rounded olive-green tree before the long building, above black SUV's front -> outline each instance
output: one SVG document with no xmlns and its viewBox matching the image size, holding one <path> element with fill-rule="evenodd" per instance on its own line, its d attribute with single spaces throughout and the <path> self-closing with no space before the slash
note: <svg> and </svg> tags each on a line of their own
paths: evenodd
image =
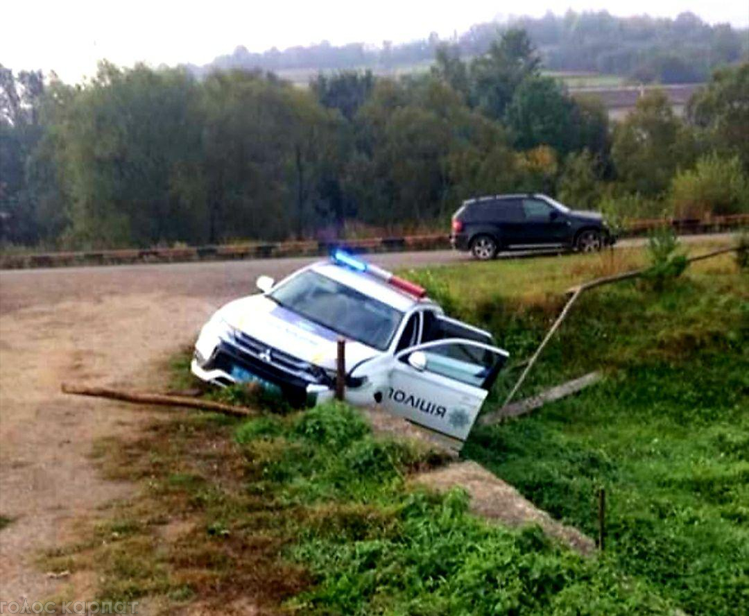
<svg viewBox="0 0 749 616">
<path fill-rule="evenodd" d="M 614 130 L 611 155 L 616 174 L 632 192 L 662 193 L 676 169 L 690 165 L 695 153 L 693 136 L 660 91 L 640 98 Z"/>
</svg>

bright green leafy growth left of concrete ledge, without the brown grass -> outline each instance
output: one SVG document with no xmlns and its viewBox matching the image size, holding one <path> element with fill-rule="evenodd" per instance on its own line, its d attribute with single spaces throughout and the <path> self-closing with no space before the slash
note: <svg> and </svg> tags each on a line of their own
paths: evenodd
<svg viewBox="0 0 749 616">
<path fill-rule="evenodd" d="M 313 585 L 303 614 L 667 613 L 668 603 L 606 559 L 585 559 L 539 528 L 509 531 L 470 515 L 464 492 L 437 496 L 404 478 L 440 462 L 374 438 L 357 411 L 314 408 L 237 430 L 252 490 L 301 508 L 286 549 Z"/>
</svg>

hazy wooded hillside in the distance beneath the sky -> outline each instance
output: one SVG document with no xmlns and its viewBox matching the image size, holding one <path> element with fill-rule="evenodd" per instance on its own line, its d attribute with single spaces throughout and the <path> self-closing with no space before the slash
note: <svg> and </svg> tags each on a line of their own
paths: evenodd
<svg viewBox="0 0 749 616">
<path fill-rule="evenodd" d="M 539 48 L 545 67 L 555 71 L 604 73 L 637 82 L 683 83 L 705 80 L 712 68 L 749 55 L 749 29 L 709 25 L 694 13 L 676 19 L 649 16 L 616 17 L 606 11 L 563 16 L 547 13 L 535 19 L 473 25 L 449 40 L 430 34 L 422 40 L 381 47 L 364 43 L 333 46 L 275 47 L 262 53 L 237 46 L 202 67 L 188 64 L 198 76 L 212 70 L 270 70 L 295 82 L 307 82 L 318 71 L 366 69 L 390 74 L 425 70 L 437 47 L 455 46 L 463 56 L 485 53 L 498 32 L 525 28 Z"/>
</svg>

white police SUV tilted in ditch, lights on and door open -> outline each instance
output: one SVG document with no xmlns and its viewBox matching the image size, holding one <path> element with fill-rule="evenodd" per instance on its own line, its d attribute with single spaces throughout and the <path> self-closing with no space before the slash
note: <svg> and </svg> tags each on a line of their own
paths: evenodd
<svg viewBox="0 0 749 616">
<path fill-rule="evenodd" d="M 461 442 L 508 357 L 425 289 L 342 250 L 277 284 L 261 276 L 258 289 L 201 329 L 191 366 L 198 378 L 256 381 L 314 405 L 333 397 L 343 337 L 347 402 L 380 405 Z"/>
</svg>

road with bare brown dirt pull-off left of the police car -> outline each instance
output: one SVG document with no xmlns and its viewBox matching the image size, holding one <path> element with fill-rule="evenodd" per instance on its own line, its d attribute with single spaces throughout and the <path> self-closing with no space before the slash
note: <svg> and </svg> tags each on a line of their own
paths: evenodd
<svg viewBox="0 0 749 616">
<path fill-rule="evenodd" d="M 389 269 L 470 260 L 446 250 L 369 258 Z M 13 519 L 0 531 L 0 600 L 31 603 L 67 585 L 90 600 L 95 581 L 46 577 L 34 555 L 65 543 L 71 520 L 95 518 L 130 489 L 97 474 L 91 443 L 137 434 L 148 416 L 63 396 L 61 382 L 161 387 L 163 362 L 216 307 L 255 292 L 260 274 L 278 279 L 315 260 L 0 271 L 0 515 Z"/>
</svg>

